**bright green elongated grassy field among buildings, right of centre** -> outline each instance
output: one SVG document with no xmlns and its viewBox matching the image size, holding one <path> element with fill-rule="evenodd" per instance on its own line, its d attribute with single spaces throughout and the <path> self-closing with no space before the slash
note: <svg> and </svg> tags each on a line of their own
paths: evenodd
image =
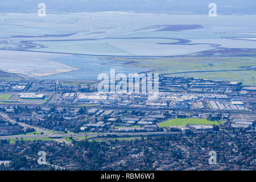
<svg viewBox="0 0 256 182">
<path fill-rule="evenodd" d="M 218 121 L 208 121 L 199 118 L 176 118 L 159 124 L 159 127 L 186 126 L 186 125 L 220 125 Z"/>
</svg>

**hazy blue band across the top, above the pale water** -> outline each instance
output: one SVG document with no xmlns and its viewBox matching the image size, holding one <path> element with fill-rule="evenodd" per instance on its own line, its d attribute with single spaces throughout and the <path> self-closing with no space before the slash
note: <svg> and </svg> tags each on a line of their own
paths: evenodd
<svg viewBox="0 0 256 182">
<path fill-rule="evenodd" d="M 218 14 L 256 14 L 256 0 L 1 0 L 0 13 L 33 12 L 46 3 L 52 13 L 134 11 L 170 14 L 207 14 L 209 3 Z M 48 12 L 49 13 L 49 12 Z"/>
</svg>

